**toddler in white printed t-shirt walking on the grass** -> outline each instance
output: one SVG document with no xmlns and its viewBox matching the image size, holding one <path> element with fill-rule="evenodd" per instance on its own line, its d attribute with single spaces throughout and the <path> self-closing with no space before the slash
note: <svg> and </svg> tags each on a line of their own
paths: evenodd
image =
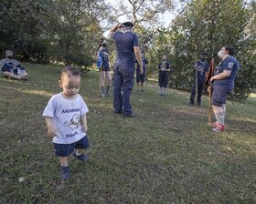
<svg viewBox="0 0 256 204">
<path fill-rule="evenodd" d="M 73 153 L 82 162 L 89 160 L 84 154 L 89 148 L 86 113 L 89 109 L 80 90 L 80 70 L 66 66 L 61 70 L 59 87 L 62 92 L 52 96 L 43 112 L 48 127 L 48 137 L 52 138 L 55 155 L 59 157 L 61 176 L 69 179 L 68 156 Z M 75 150 L 75 151 L 74 151 Z"/>
</svg>

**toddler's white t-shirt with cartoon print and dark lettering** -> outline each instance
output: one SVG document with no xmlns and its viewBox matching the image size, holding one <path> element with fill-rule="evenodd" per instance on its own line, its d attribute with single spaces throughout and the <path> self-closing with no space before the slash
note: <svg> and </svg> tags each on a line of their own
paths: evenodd
<svg viewBox="0 0 256 204">
<path fill-rule="evenodd" d="M 57 136 L 52 141 L 57 144 L 71 144 L 83 138 L 86 133 L 80 126 L 80 117 L 88 111 L 79 94 L 75 99 L 62 97 L 61 93 L 52 96 L 43 112 L 44 117 L 53 117 L 57 128 Z"/>
</svg>

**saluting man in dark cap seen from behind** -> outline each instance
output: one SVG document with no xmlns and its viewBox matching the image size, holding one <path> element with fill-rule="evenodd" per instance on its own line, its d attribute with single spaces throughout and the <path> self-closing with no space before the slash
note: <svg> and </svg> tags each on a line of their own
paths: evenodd
<svg viewBox="0 0 256 204">
<path fill-rule="evenodd" d="M 119 28 L 121 30 L 118 30 Z M 135 57 L 140 65 L 141 73 L 143 74 L 144 71 L 138 37 L 132 32 L 132 29 L 132 22 L 117 24 L 111 29 L 116 46 L 116 60 L 113 68 L 113 107 L 117 114 L 121 114 L 123 111 L 123 117 L 135 117 L 130 103 Z"/>
</svg>

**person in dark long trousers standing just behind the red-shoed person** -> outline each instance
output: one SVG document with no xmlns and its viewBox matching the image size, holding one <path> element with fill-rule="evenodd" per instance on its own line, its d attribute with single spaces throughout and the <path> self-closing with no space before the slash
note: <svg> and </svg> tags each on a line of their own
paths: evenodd
<svg viewBox="0 0 256 204">
<path fill-rule="evenodd" d="M 208 75 L 208 54 L 202 53 L 201 58 L 197 61 L 195 65 L 195 76 L 194 76 L 194 86 L 192 87 L 192 92 L 190 96 L 190 106 L 195 105 L 195 97 L 197 91 L 197 106 L 201 106 L 201 97 L 205 86 L 206 76 Z M 196 85 L 197 81 L 197 85 Z M 196 90 L 197 88 L 197 90 Z"/>
</svg>

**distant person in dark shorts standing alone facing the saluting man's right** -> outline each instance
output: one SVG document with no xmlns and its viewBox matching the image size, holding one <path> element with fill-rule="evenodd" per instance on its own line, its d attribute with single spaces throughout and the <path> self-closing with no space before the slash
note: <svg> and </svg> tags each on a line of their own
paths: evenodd
<svg viewBox="0 0 256 204">
<path fill-rule="evenodd" d="M 166 56 L 162 57 L 158 66 L 158 81 L 161 92 L 161 97 L 166 97 L 166 87 L 169 80 L 169 72 L 171 71 L 170 64 L 166 60 Z"/>
</svg>

